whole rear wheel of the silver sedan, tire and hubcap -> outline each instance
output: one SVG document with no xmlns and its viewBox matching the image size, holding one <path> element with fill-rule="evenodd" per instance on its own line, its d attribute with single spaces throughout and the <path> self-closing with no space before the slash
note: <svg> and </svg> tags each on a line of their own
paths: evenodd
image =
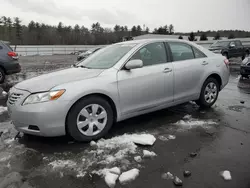
<svg viewBox="0 0 250 188">
<path fill-rule="evenodd" d="M 201 107 L 209 108 L 216 102 L 218 95 L 218 81 L 214 78 L 208 78 L 202 86 L 200 98 L 196 103 Z"/>
</svg>

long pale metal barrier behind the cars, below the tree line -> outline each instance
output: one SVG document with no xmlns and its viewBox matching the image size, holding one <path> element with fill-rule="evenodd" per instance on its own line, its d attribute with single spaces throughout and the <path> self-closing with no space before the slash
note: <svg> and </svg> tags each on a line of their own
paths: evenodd
<svg viewBox="0 0 250 188">
<path fill-rule="evenodd" d="M 250 45 L 250 39 L 241 39 L 243 45 Z M 209 48 L 215 41 L 197 41 L 196 43 Z M 55 54 L 74 54 L 86 51 L 91 48 L 104 47 L 106 45 L 18 45 L 16 52 L 23 56 L 32 55 L 55 55 Z M 15 49 L 15 46 L 12 46 Z"/>
</svg>

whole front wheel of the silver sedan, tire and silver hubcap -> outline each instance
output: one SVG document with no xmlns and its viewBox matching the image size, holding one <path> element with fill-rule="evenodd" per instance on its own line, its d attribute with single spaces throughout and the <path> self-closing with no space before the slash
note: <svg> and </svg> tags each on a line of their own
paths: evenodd
<svg viewBox="0 0 250 188">
<path fill-rule="evenodd" d="M 80 100 L 69 111 L 67 131 L 80 142 L 97 140 L 109 131 L 113 120 L 110 104 L 101 97 L 91 96 Z"/>
</svg>

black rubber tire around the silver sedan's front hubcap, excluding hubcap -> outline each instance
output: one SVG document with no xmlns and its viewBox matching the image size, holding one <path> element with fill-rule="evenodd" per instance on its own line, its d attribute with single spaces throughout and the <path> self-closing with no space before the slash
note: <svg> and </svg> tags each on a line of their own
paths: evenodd
<svg viewBox="0 0 250 188">
<path fill-rule="evenodd" d="M 83 133 L 81 133 L 77 127 L 77 117 L 80 111 L 84 107 L 91 105 L 91 104 L 98 104 L 105 109 L 107 113 L 107 122 L 105 124 L 104 129 L 100 133 L 94 136 L 86 136 Z M 89 142 L 91 140 L 97 140 L 99 138 L 102 138 L 104 135 L 106 135 L 108 131 L 110 130 L 110 128 L 112 127 L 113 123 L 114 123 L 114 112 L 109 102 L 101 97 L 90 96 L 90 97 L 81 99 L 70 109 L 68 116 L 67 116 L 66 128 L 67 128 L 67 133 L 71 137 L 73 137 L 75 140 L 79 142 Z"/>
</svg>

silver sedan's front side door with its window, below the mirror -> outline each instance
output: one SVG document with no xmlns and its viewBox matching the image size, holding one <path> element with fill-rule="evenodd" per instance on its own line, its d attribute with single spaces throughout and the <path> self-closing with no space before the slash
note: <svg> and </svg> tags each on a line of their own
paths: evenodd
<svg viewBox="0 0 250 188">
<path fill-rule="evenodd" d="M 118 72 L 118 91 L 123 115 L 143 112 L 173 101 L 173 66 L 162 42 L 147 44 L 131 59 L 143 67 Z"/>
</svg>

